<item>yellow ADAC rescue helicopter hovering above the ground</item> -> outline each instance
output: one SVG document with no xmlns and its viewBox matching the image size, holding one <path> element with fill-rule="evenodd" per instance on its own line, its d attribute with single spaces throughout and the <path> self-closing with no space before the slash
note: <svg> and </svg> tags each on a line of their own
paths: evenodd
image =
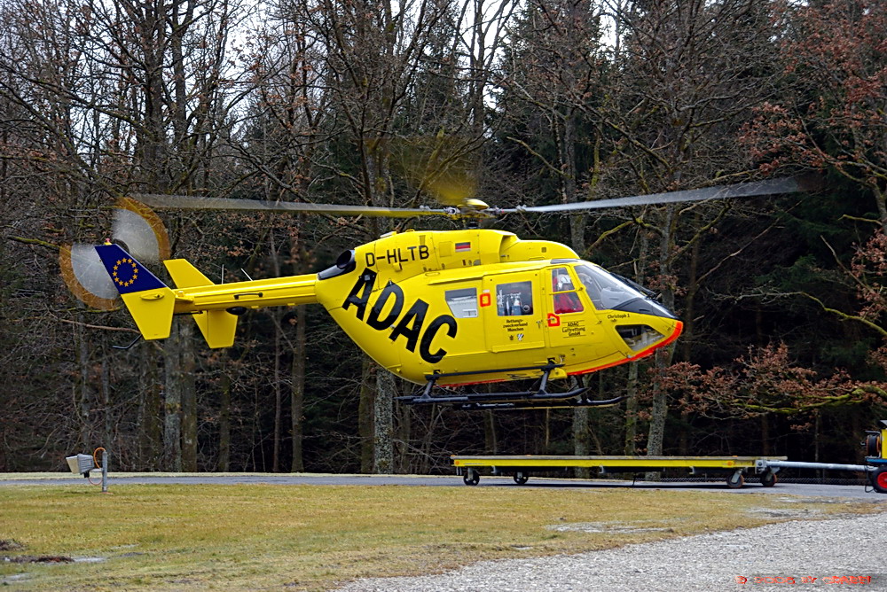
<svg viewBox="0 0 887 592">
<path fill-rule="evenodd" d="M 450 215 L 477 221 L 518 211 L 575 212 L 805 189 L 802 180 L 787 178 L 558 206 L 501 209 L 467 199 L 439 210 L 133 197 L 157 208 Z M 145 339 L 169 337 L 173 316 L 191 315 L 208 347 L 230 347 L 239 316 L 251 309 L 319 303 L 383 368 L 423 385 L 402 397 L 412 404 L 459 409 L 614 404 L 621 399 L 589 399 L 581 379 L 565 392 L 551 392 L 548 383 L 637 360 L 680 335 L 682 323 L 652 292 L 582 261 L 568 246 L 475 226 L 390 232 L 341 253 L 334 266 L 316 274 L 229 284 L 215 284 L 188 261 L 172 259 L 164 261 L 175 284 L 169 287 L 122 245 L 109 241 L 95 251 Z M 454 390 L 526 378 L 538 379 L 538 386 L 516 393 Z"/>
</svg>

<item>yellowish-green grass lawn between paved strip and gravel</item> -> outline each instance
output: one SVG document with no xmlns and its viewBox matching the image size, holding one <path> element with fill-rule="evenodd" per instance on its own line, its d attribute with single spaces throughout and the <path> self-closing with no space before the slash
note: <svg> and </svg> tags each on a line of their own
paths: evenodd
<svg viewBox="0 0 887 592">
<path fill-rule="evenodd" d="M 0 541 L 18 547 L 0 557 L 78 561 L 0 561 L 0 582 L 318 590 L 482 559 L 878 510 L 883 504 L 773 494 L 593 488 L 115 485 L 102 495 L 94 487 L 2 487 Z"/>
</svg>

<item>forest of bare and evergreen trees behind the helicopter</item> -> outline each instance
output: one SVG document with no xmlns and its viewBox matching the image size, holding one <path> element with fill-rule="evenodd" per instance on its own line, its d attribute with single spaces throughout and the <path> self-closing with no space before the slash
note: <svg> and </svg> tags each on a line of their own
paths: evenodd
<svg viewBox="0 0 887 592">
<path fill-rule="evenodd" d="M 887 418 L 887 3 L 0 0 L 0 471 L 450 471 L 451 454 L 859 461 Z M 820 191 L 495 227 L 655 289 L 676 346 L 608 409 L 404 407 L 320 308 L 128 351 L 59 251 L 139 192 L 542 205 L 817 171 Z M 429 179 L 437 179 L 434 183 Z M 445 220 L 163 213 L 218 281 L 324 269 Z M 216 271 L 214 271 L 216 270 Z M 159 270 L 155 270 L 159 273 Z"/>
</svg>

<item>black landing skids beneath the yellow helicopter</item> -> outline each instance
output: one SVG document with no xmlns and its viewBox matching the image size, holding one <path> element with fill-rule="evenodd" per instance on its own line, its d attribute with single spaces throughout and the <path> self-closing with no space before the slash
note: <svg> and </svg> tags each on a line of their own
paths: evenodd
<svg viewBox="0 0 887 592">
<path fill-rule="evenodd" d="M 408 405 L 452 405 L 454 409 L 463 411 L 477 411 L 484 409 L 552 409 L 574 407 L 600 407 L 615 405 L 624 397 L 616 397 L 606 400 L 588 399 L 586 393 L 589 387 L 585 386 L 582 377 L 577 377 L 579 386 L 564 393 L 549 393 L 547 390 L 548 378 L 552 370 L 561 368 L 563 364 L 549 361 L 542 366 L 524 366 L 522 368 L 506 368 L 498 370 L 477 370 L 474 372 L 451 372 L 427 374 L 428 382 L 420 391 L 405 397 L 397 397 Z M 442 387 L 437 386 L 441 378 L 453 378 L 492 374 L 498 372 L 526 372 L 538 370 L 542 373 L 538 387 L 531 391 L 518 391 L 514 393 L 463 393 L 463 394 L 436 394 Z"/>
</svg>

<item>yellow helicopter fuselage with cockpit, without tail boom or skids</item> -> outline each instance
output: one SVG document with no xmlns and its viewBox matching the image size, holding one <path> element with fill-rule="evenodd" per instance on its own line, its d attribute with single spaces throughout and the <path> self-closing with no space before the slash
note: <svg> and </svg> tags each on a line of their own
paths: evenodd
<svg viewBox="0 0 887 592">
<path fill-rule="evenodd" d="M 444 386 L 535 378 L 514 369 L 550 362 L 563 378 L 643 357 L 682 327 L 569 247 L 499 230 L 391 233 L 345 260 L 318 275 L 318 302 L 416 383 L 432 372 L 458 375 Z"/>
</svg>

